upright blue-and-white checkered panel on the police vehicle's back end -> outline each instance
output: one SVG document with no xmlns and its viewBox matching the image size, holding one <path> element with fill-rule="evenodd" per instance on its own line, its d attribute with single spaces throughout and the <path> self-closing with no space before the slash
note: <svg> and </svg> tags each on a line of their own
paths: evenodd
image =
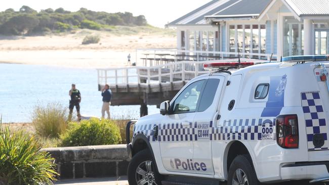
<svg viewBox="0 0 329 185">
<path fill-rule="evenodd" d="M 319 92 L 302 92 L 301 96 L 308 150 L 327 150 L 329 147 L 327 141 L 328 127 Z M 315 148 L 313 145 L 313 135 L 316 133 L 323 135 L 324 145 L 321 148 Z"/>
</svg>

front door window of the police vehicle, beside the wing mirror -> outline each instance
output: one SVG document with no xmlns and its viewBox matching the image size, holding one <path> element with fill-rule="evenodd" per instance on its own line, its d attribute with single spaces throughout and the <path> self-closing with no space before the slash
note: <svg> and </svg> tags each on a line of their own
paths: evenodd
<svg viewBox="0 0 329 185">
<path fill-rule="evenodd" d="M 203 82 L 204 80 L 193 82 L 181 92 L 173 103 L 173 114 L 195 112 Z"/>
</svg>

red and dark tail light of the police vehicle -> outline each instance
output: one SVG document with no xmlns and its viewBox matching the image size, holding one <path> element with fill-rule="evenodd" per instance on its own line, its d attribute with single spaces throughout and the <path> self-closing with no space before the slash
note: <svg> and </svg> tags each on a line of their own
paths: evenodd
<svg viewBox="0 0 329 185">
<path fill-rule="evenodd" d="M 276 117 L 276 141 L 282 148 L 298 148 L 299 134 L 296 114 Z"/>
</svg>

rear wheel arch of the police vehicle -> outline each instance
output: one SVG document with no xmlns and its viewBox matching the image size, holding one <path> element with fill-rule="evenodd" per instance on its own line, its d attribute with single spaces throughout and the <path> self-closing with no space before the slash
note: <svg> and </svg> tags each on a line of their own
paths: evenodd
<svg viewBox="0 0 329 185">
<path fill-rule="evenodd" d="M 243 154 L 249 155 L 251 160 L 250 162 L 252 164 L 253 169 L 255 170 L 254 167 L 255 156 L 254 153 L 252 153 L 251 151 L 252 150 L 249 145 L 246 145 L 245 143 L 242 143 L 240 141 L 231 141 L 230 143 L 227 144 L 223 158 L 223 170 L 224 170 L 225 179 L 228 178 L 228 170 L 231 163 L 233 162 L 234 158 L 238 155 L 243 155 Z M 256 170 L 255 172 L 257 175 Z"/>
</svg>

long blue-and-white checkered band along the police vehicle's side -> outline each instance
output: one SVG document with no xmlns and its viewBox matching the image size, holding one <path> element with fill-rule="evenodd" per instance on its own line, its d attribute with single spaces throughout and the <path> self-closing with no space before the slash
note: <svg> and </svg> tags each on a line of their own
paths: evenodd
<svg viewBox="0 0 329 185">
<path fill-rule="evenodd" d="M 153 127 L 156 125 L 158 125 L 157 140 L 153 136 Z M 274 133 L 275 119 L 229 119 L 224 120 L 224 125 L 221 127 L 214 127 L 213 122 L 210 121 L 208 138 L 211 141 L 268 140 L 269 138 L 263 138 L 262 136 L 262 129 L 268 127 L 271 127 L 273 131 L 270 139 L 276 140 Z M 180 123 L 145 124 L 135 126 L 134 136 L 142 133 L 149 141 L 153 142 L 188 142 L 198 140 L 197 130 L 197 122 L 190 122 L 187 127 L 183 127 Z"/>
</svg>

